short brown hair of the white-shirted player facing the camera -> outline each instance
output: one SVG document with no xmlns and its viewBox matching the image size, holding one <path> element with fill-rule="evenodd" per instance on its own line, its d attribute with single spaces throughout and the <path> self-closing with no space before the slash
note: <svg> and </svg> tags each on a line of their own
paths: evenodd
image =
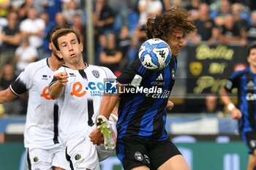
<svg viewBox="0 0 256 170">
<path fill-rule="evenodd" d="M 65 36 L 69 33 L 75 34 L 78 39 L 78 43 L 80 44 L 80 34 L 78 33 L 78 30 L 76 28 L 60 28 L 59 30 L 56 30 L 55 34 L 53 35 L 53 45 L 56 47 L 56 50 L 59 50 L 59 37 Z"/>
</svg>

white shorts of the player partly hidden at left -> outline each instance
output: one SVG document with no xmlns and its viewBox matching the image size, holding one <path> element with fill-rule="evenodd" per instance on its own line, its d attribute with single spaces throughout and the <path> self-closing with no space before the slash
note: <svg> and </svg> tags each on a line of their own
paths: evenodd
<svg viewBox="0 0 256 170">
<path fill-rule="evenodd" d="M 65 148 L 62 145 L 51 150 L 26 148 L 29 169 L 52 170 L 53 166 L 69 170 L 69 162 L 65 158 Z"/>
</svg>

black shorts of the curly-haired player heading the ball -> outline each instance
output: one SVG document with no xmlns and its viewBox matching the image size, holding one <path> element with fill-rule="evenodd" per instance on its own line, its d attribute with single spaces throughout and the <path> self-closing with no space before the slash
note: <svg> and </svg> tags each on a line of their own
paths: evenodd
<svg viewBox="0 0 256 170">
<path fill-rule="evenodd" d="M 165 141 L 147 141 L 143 139 L 123 139 L 116 147 L 118 159 L 124 170 L 146 165 L 149 169 L 158 169 L 175 155 L 181 155 L 178 148 L 167 139 Z"/>
</svg>

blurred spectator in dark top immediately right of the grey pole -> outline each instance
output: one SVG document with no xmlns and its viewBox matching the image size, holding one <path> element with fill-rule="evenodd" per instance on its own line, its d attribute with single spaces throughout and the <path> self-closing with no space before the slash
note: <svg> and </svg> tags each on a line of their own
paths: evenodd
<svg viewBox="0 0 256 170">
<path fill-rule="evenodd" d="M 115 22 L 115 13 L 105 0 L 96 0 L 93 15 L 94 26 L 99 29 L 99 32 L 108 34 L 108 31 L 113 31 Z"/>
</svg>

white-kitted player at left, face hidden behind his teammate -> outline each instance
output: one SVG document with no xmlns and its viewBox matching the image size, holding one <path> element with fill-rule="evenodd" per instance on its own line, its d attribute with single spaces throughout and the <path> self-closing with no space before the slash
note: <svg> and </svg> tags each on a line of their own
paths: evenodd
<svg viewBox="0 0 256 170">
<path fill-rule="evenodd" d="M 51 36 L 59 27 L 53 28 Z M 64 63 L 52 50 L 50 58 L 45 58 L 29 66 L 20 73 L 10 88 L 0 92 L 0 103 L 10 101 L 29 91 L 29 104 L 26 113 L 24 144 L 27 150 L 29 169 L 69 169 L 65 158 L 65 148 L 59 140 L 58 106 L 48 93 L 50 76 Z"/>
</svg>

